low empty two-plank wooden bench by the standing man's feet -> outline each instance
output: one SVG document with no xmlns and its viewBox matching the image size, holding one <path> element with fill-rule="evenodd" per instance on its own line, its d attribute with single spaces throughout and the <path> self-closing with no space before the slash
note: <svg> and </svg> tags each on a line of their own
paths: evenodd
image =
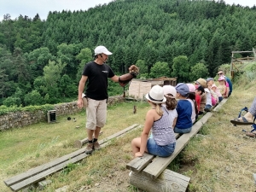
<svg viewBox="0 0 256 192">
<path fill-rule="evenodd" d="M 123 136 L 126 132 L 140 128 L 141 125 L 134 124 L 122 131 L 119 131 L 112 136 L 102 139 L 99 141 L 101 148 L 104 148 L 108 145 L 111 139 L 116 137 Z M 45 177 L 61 171 L 67 165 L 71 163 L 76 163 L 79 160 L 83 160 L 85 157 L 89 156 L 90 154 L 85 154 L 85 148 L 80 148 L 79 150 L 74 151 L 71 154 L 67 154 L 58 158 L 56 160 L 52 160 L 49 163 L 46 163 L 42 166 L 34 167 L 27 172 L 22 172 L 19 175 L 14 177 L 10 177 L 3 182 L 13 191 L 19 191 L 20 189 L 24 189 L 27 186 L 31 185 L 32 183 L 38 183 L 39 181 L 43 180 Z"/>
</svg>

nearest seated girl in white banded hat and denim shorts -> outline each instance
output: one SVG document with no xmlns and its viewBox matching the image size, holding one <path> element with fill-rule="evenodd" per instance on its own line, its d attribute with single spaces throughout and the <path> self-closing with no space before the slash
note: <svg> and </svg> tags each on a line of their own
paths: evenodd
<svg viewBox="0 0 256 192">
<path fill-rule="evenodd" d="M 141 137 L 131 141 L 132 154 L 134 157 L 141 157 L 144 152 L 160 157 L 170 156 L 175 149 L 176 138 L 168 110 L 162 106 L 166 102 L 164 89 L 160 85 L 154 85 L 145 97 L 151 109 L 146 115 Z M 150 130 L 152 138 L 148 138 Z"/>
</svg>

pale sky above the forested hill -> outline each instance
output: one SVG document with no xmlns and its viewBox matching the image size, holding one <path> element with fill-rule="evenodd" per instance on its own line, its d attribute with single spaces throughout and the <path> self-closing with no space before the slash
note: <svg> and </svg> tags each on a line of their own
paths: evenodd
<svg viewBox="0 0 256 192">
<path fill-rule="evenodd" d="M 27 15 L 32 19 L 37 14 L 41 20 L 46 20 L 49 11 L 87 10 L 112 1 L 114 0 L 0 0 L 0 20 L 3 20 L 3 15 L 6 14 L 9 14 L 12 20 L 19 15 Z M 254 0 L 224 0 L 224 2 L 249 7 L 256 5 Z"/>
</svg>

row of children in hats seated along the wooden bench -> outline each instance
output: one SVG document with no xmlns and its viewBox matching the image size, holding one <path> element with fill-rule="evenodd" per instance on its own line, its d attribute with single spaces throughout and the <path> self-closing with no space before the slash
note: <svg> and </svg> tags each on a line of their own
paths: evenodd
<svg viewBox="0 0 256 192">
<path fill-rule="evenodd" d="M 219 76 L 219 81 L 225 79 Z M 134 157 L 141 157 L 144 152 L 170 156 L 176 146 L 175 133 L 189 133 L 198 115 L 212 108 L 211 90 L 218 88 L 213 83 L 213 79 L 198 79 L 196 84 L 179 83 L 175 87 L 154 85 L 145 96 L 151 109 L 146 114 L 141 137 L 131 141 Z M 231 91 L 226 89 L 224 97 L 230 96 Z M 211 99 L 211 103 L 207 98 Z"/>
</svg>

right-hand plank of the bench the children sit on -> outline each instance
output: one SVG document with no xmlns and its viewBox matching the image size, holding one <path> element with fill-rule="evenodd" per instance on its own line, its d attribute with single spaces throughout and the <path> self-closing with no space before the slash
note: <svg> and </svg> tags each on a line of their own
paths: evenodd
<svg viewBox="0 0 256 192">
<path fill-rule="evenodd" d="M 195 123 L 195 125 L 192 126 L 192 130 L 189 133 L 183 134 L 177 139 L 176 148 L 171 156 L 166 158 L 155 157 L 154 161 L 143 170 L 143 174 L 154 179 L 159 177 L 160 173 L 166 169 L 177 154 L 179 154 L 186 144 L 189 143 L 190 138 L 194 137 L 195 134 L 200 131 L 202 125 L 204 125 L 207 122 L 207 119 L 209 119 L 211 116 L 212 113 L 205 114 L 199 121 Z"/>
</svg>

